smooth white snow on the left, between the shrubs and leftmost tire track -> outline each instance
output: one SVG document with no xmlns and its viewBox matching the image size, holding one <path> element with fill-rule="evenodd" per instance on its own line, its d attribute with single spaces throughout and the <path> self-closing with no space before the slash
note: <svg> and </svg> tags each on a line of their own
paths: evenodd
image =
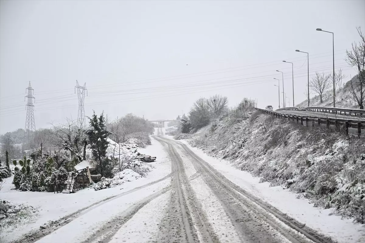
<svg viewBox="0 0 365 243">
<path fill-rule="evenodd" d="M 147 146 L 146 148 L 139 148 L 138 152 L 157 156 L 157 160 L 151 163 L 151 165 L 153 165 L 154 167 L 152 173 L 149 173 L 146 177 L 139 178 L 138 180 L 128 181 L 128 183 L 123 183 L 122 185 L 114 188 L 108 188 L 100 191 L 95 191 L 93 188 L 88 188 L 71 194 L 49 192 L 21 192 L 13 189 L 15 188 L 12 184 L 13 177 L 6 178 L 4 180 L 3 188 L 1 189 L 0 200 L 7 200 L 15 204 L 23 203 L 26 205 L 30 205 L 36 208 L 38 212 L 35 213 L 30 222 L 25 222 L 26 224 L 19 224 L 12 231 L 11 234 L 5 234 L 6 228 L 0 229 L 0 242 L 11 242 L 12 240 L 18 239 L 20 236 L 26 234 L 31 230 L 39 229 L 41 225 L 49 222 L 50 220 L 58 220 L 66 215 L 69 215 L 70 213 L 78 211 L 81 208 L 88 207 L 89 205 L 97 201 L 103 200 L 110 196 L 118 195 L 133 188 L 146 185 L 150 182 L 165 177 L 171 172 L 169 157 L 165 153 L 165 150 L 159 142 L 157 142 L 156 140 L 152 140 L 151 144 L 152 145 Z M 160 184 L 160 187 L 162 187 L 165 181 L 166 180 L 161 182 L 162 184 Z M 153 188 L 147 187 L 146 191 L 148 192 L 149 190 L 153 191 Z M 140 193 L 141 196 L 147 196 L 144 192 L 140 190 L 136 191 L 135 193 Z M 121 201 L 125 201 L 127 198 L 128 201 L 131 200 L 132 202 L 133 196 L 130 195 L 126 197 L 121 197 Z M 135 199 L 138 200 L 137 197 Z M 118 203 L 113 205 L 116 207 L 117 204 Z M 94 215 L 93 220 L 95 220 L 95 217 L 96 216 Z M 59 240 L 60 242 L 64 242 L 62 241 L 62 238 L 59 238 Z"/>
</svg>

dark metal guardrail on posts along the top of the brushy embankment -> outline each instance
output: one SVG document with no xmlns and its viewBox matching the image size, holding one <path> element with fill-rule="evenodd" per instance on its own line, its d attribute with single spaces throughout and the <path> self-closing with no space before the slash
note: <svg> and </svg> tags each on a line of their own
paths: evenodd
<svg viewBox="0 0 365 243">
<path fill-rule="evenodd" d="M 289 107 L 296 108 L 296 107 Z M 301 116 L 301 115 L 292 115 L 292 114 L 284 114 L 277 111 L 264 110 L 260 108 L 255 108 L 256 110 L 265 113 L 271 114 L 276 118 L 284 118 L 291 120 L 292 122 L 296 121 L 297 124 L 303 125 L 305 122 L 305 126 L 309 126 L 311 124 L 314 127 L 314 124 L 320 126 L 321 124 L 326 125 L 326 128 L 329 129 L 331 125 L 335 126 L 335 130 L 339 131 L 342 126 L 345 129 L 345 134 L 349 136 L 349 128 L 357 129 L 357 136 L 361 136 L 361 129 L 365 129 L 365 121 L 364 120 L 353 120 L 353 119 L 341 119 L 341 118 L 330 118 L 330 117 L 311 117 L 311 116 Z M 341 109 L 341 108 L 340 108 Z M 303 125 L 304 126 L 304 125 Z"/>
</svg>

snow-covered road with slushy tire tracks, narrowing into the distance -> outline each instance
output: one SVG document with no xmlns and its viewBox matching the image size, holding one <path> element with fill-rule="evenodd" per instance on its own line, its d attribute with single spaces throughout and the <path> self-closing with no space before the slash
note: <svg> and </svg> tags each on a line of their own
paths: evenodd
<svg viewBox="0 0 365 243">
<path fill-rule="evenodd" d="M 283 207 L 289 197 L 282 199 L 283 205 L 276 205 L 274 199 L 271 203 L 253 180 L 251 184 L 239 178 L 245 172 L 229 165 L 220 168 L 222 162 L 217 166 L 185 142 L 164 135 L 164 129 L 156 130 L 154 151 L 158 148 L 164 153 L 158 158 L 165 157 L 156 168 L 160 169 L 158 176 L 119 193 L 114 188 L 101 190 L 112 194 L 55 220 L 50 227 L 28 232 L 16 242 L 330 243 L 363 239 L 361 226 L 338 216 L 323 215 L 315 224 L 311 218 L 315 211 L 303 200 L 297 199 L 297 207 L 303 209 L 296 210 L 306 212 L 304 217 L 295 215 L 293 207 Z M 78 193 L 82 195 L 75 195 Z M 322 224 L 329 224 L 330 230 Z M 340 229 L 346 232 L 331 232 Z"/>
</svg>

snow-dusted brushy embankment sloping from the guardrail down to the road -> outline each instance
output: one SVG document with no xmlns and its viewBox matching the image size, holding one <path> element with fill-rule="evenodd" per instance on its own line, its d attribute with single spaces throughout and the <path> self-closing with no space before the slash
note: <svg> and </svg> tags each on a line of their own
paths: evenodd
<svg viewBox="0 0 365 243">
<path fill-rule="evenodd" d="M 262 182 L 289 188 L 315 207 L 334 208 L 365 223 L 363 138 L 308 129 L 253 111 L 243 114 L 240 122 L 224 119 L 200 133 L 176 138 L 231 161 Z"/>
</svg>

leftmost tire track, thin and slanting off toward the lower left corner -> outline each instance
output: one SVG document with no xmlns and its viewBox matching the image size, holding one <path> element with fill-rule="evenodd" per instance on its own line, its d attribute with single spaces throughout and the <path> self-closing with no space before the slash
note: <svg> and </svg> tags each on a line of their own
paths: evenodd
<svg viewBox="0 0 365 243">
<path fill-rule="evenodd" d="M 122 192 L 120 194 L 104 198 L 103 200 L 100 200 L 100 201 L 96 201 L 95 203 L 93 203 L 93 204 L 91 204 L 87 207 L 81 208 L 81 209 L 79 209 L 78 211 L 76 211 L 74 213 L 71 213 L 69 215 L 66 215 L 66 216 L 62 217 L 61 219 L 51 221 L 46 226 L 42 227 L 42 229 L 40 228 L 39 230 L 38 229 L 37 230 L 32 230 L 32 231 L 24 234 L 20 238 L 12 241 L 12 243 L 33 243 L 33 242 L 36 242 L 37 240 L 45 237 L 46 235 L 51 234 L 52 232 L 58 230 L 62 226 L 70 223 L 72 220 L 76 219 L 77 217 L 80 217 L 80 216 L 84 215 L 85 213 L 91 211 L 92 209 L 94 209 L 96 207 L 100 207 L 101 205 L 103 205 L 103 204 L 105 204 L 105 203 L 107 203 L 111 200 L 115 200 L 119 197 L 128 195 L 132 192 L 138 191 L 139 189 L 143 189 L 143 188 L 149 187 L 151 185 L 154 185 L 156 183 L 159 183 L 161 181 L 164 181 L 164 180 L 168 179 L 171 176 L 172 176 L 172 173 L 170 173 L 169 175 L 167 175 L 165 177 L 162 177 L 161 179 L 158 179 L 156 181 L 152 181 L 152 182 L 150 182 L 146 185 L 142 185 L 140 187 L 133 188 L 129 191 Z"/>
</svg>

